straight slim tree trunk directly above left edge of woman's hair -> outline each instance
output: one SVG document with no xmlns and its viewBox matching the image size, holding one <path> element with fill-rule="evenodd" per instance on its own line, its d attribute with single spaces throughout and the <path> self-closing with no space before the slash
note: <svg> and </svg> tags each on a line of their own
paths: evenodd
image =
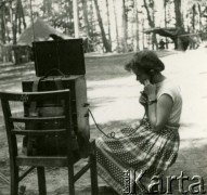
<svg viewBox="0 0 207 195">
<path fill-rule="evenodd" d="M 127 47 L 127 11 L 126 11 L 126 5 L 125 5 L 125 0 L 121 0 L 122 2 L 122 40 L 121 40 L 121 44 L 122 44 L 122 51 L 127 52 L 128 51 L 128 47 Z"/>
</svg>

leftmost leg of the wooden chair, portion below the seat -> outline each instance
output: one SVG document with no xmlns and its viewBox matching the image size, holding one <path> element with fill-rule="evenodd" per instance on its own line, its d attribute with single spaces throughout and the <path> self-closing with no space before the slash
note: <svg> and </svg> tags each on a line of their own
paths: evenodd
<svg viewBox="0 0 207 195">
<path fill-rule="evenodd" d="M 18 167 L 15 166 L 11 166 L 10 193 L 18 195 Z"/>
</svg>

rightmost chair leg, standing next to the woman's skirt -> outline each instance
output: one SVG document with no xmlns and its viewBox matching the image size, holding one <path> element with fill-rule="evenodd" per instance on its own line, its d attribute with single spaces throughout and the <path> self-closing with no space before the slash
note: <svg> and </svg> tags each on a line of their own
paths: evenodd
<svg viewBox="0 0 207 195">
<path fill-rule="evenodd" d="M 92 161 L 92 165 L 90 168 L 90 171 L 91 171 L 91 194 L 92 195 L 99 195 L 95 154 L 91 154 L 90 161 Z"/>
</svg>

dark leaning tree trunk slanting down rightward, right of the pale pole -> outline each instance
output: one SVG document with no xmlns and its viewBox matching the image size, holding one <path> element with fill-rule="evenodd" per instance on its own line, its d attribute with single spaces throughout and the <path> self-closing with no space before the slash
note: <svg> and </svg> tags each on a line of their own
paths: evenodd
<svg viewBox="0 0 207 195">
<path fill-rule="evenodd" d="M 94 0 L 94 4 L 95 4 L 95 10 L 96 10 L 96 15 L 98 15 L 98 22 L 99 22 L 101 34 L 102 34 L 103 46 L 104 46 L 106 52 L 112 52 L 112 47 L 109 46 L 109 43 L 108 43 L 108 41 L 106 39 L 106 36 L 105 36 L 105 30 L 104 30 L 104 27 L 103 27 L 103 22 L 102 22 L 102 17 L 101 17 L 101 14 L 100 14 L 98 0 Z"/>
</svg>

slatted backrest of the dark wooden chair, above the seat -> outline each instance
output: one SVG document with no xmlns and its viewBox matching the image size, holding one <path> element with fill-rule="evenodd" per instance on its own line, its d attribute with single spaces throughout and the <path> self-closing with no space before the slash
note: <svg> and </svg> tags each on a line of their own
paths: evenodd
<svg viewBox="0 0 207 195">
<path fill-rule="evenodd" d="M 69 90 L 47 91 L 47 92 L 0 92 L 1 105 L 4 115 L 5 129 L 9 143 L 10 158 L 15 158 L 18 154 L 17 144 L 22 140 L 18 136 L 51 136 L 64 135 L 67 139 L 67 156 L 72 152 L 72 112 Z M 64 102 L 63 113 L 55 116 L 28 116 L 25 113 L 25 104 L 59 101 Z M 44 129 L 27 128 L 28 123 L 52 123 L 62 122 L 63 126 Z M 18 135 L 18 136 L 17 136 Z M 12 160 L 12 159 L 11 159 Z"/>
</svg>

